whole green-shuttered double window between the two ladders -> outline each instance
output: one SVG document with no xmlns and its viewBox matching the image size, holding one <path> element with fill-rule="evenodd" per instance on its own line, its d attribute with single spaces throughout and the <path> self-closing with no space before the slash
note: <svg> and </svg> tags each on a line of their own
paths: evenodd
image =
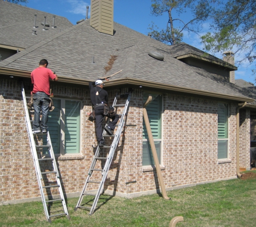
<svg viewBox="0 0 256 227">
<path fill-rule="evenodd" d="M 54 154 L 79 153 L 81 102 L 54 98 L 53 103 L 47 125 Z"/>
</svg>

